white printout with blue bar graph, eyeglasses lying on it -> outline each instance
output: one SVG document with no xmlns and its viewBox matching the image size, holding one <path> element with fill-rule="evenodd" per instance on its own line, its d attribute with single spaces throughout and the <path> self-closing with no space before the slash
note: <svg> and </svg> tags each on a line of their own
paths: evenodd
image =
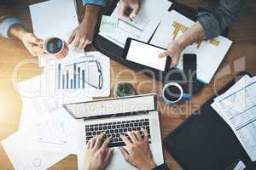
<svg viewBox="0 0 256 170">
<path fill-rule="evenodd" d="M 108 96 L 110 90 L 110 70 L 108 57 L 98 52 L 90 52 L 81 57 L 68 59 L 56 65 L 56 88 L 67 93 L 86 92 L 97 97 Z"/>
</svg>

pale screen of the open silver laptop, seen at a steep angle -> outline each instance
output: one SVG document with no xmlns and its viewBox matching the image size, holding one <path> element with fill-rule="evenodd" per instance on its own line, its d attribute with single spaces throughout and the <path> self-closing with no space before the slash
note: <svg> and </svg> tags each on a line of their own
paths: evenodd
<svg viewBox="0 0 256 170">
<path fill-rule="evenodd" d="M 126 98 L 102 99 L 90 102 L 63 105 L 75 118 L 112 116 L 124 113 L 154 111 L 156 96 L 139 95 Z"/>
</svg>

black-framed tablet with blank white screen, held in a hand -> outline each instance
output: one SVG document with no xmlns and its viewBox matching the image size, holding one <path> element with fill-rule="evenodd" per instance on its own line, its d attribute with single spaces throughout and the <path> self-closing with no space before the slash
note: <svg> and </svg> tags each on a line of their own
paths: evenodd
<svg viewBox="0 0 256 170">
<path fill-rule="evenodd" d="M 158 55 L 164 51 L 166 51 L 165 48 L 160 48 L 136 39 L 127 38 L 123 51 L 123 59 L 159 71 L 169 71 L 172 62 L 171 57 L 158 57 Z"/>
</svg>

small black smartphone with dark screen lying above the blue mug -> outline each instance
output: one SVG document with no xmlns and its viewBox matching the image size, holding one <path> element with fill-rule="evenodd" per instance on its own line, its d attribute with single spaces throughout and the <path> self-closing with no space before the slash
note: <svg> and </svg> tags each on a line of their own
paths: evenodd
<svg viewBox="0 0 256 170">
<path fill-rule="evenodd" d="M 183 54 L 183 72 L 187 81 L 196 81 L 196 54 Z"/>
</svg>

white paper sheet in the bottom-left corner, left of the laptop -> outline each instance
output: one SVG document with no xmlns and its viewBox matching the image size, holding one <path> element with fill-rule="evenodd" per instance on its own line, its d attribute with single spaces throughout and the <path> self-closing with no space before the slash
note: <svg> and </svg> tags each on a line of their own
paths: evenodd
<svg viewBox="0 0 256 170">
<path fill-rule="evenodd" d="M 1 142 L 15 169 L 45 170 L 69 155 L 38 150 L 38 146 L 29 138 L 30 135 L 17 132 Z"/>
</svg>

